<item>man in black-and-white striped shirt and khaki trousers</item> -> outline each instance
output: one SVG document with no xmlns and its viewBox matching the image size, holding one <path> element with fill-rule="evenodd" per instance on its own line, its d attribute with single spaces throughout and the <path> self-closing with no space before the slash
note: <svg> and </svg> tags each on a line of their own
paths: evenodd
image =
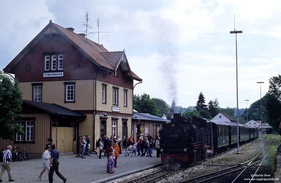
<svg viewBox="0 0 281 183">
<path fill-rule="evenodd" d="M 14 182 L 12 171 L 11 171 L 11 165 L 10 165 L 10 162 L 12 161 L 11 150 L 12 150 L 12 146 L 7 146 L 7 150 L 3 152 L 3 162 L 2 162 L 2 169 L 0 173 L 0 182 L 2 182 L 2 176 L 5 170 L 7 170 L 9 182 Z"/>
</svg>

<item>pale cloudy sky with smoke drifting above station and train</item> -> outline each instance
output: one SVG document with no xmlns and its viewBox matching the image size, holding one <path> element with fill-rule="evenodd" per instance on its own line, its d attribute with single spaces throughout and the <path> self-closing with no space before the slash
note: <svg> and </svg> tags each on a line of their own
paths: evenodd
<svg viewBox="0 0 281 183">
<path fill-rule="evenodd" d="M 2 0 L 1 60 L 3 70 L 52 20 L 89 32 L 109 51 L 125 53 L 142 84 L 135 94 L 150 94 L 168 104 L 194 106 L 203 92 L 206 103 L 236 107 L 235 34 L 238 47 L 239 108 L 264 96 L 268 80 L 280 74 L 281 1 L 74 1 Z M 235 27 L 234 27 L 235 15 Z M 79 31 L 79 32 L 78 32 Z M 98 34 L 87 37 L 98 43 Z M 257 82 L 263 81 L 261 84 Z"/>
</svg>

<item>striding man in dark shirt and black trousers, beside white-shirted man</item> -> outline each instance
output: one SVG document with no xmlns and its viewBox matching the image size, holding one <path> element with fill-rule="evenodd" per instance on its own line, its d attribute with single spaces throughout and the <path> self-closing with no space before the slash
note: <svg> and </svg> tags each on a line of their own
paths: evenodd
<svg viewBox="0 0 281 183">
<path fill-rule="evenodd" d="M 49 183 L 53 183 L 53 175 L 56 172 L 56 175 L 63 180 L 63 183 L 66 182 L 66 178 L 59 172 L 59 151 L 56 150 L 55 144 L 51 145 L 51 162 L 50 162 L 50 171 L 49 171 Z"/>
</svg>

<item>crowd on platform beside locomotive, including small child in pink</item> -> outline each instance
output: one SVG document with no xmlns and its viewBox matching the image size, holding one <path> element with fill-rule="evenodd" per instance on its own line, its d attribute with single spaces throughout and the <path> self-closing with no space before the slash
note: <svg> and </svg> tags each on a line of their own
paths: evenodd
<svg viewBox="0 0 281 183">
<path fill-rule="evenodd" d="M 125 148 L 125 156 L 129 156 L 128 152 L 131 147 L 131 157 L 135 156 L 147 156 L 153 157 L 153 148 L 156 148 L 156 157 L 160 157 L 160 137 L 157 135 L 156 139 L 153 140 L 151 135 L 149 134 L 147 138 L 142 139 L 138 138 L 138 142 L 135 143 L 135 140 L 132 135 L 130 137 L 126 137 L 126 139 L 121 140 L 120 136 L 117 136 L 115 139 L 113 135 L 109 138 L 109 136 L 104 136 L 104 143 L 102 143 L 101 138 L 98 139 L 96 143 L 97 148 L 99 149 L 99 159 L 101 158 L 101 154 L 104 151 L 104 158 L 107 158 L 106 164 L 106 172 L 113 174 L 114 168 L 117 168 L 117 159 L 122 154 L 121 149 Z M 138 154 L 136 154 L 138 152 Z"/>
</svg>

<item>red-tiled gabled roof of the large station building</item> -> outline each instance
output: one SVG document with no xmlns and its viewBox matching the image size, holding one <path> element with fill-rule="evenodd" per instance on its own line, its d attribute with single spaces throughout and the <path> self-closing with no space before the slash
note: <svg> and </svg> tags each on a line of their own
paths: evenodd
<svg viewBox="0 0 281 183">
<path fill-rule="evenodd" d="M 45 28 L 43 28 L 43 30 L 3 69 L 3 71 L 14 74 L 15 64 L 20 61 L 20 59 L 30 49 L 33 49 L 33 46 L 44 35 L 51 36 L 53 34 L 60 34 L 62 37 L 68 40 L 70 44 L 81 51 L 96 66 L 107 70 L 116 71 L 118 66 L 120 65 L 120 62 L 123 61 L 124 64 L 121 64 L 122 69 L 124 69 L 125 72 L 127 71 L 127 74 L 133 79 L 142 81 L 141 78 L 139 78 L 135 73 L 131 71 L 130 66 L 127 62 L 125 50 L 109 52 L 103 47 L 103 45 L 99 45 L 98 43 L 86 39 L 85 37 L 73 32 L 73 30 L 61 27 L 50 20 L 49 24 Z M 124 59 L 122 60 L 122 58 Z"/>
</svg>

